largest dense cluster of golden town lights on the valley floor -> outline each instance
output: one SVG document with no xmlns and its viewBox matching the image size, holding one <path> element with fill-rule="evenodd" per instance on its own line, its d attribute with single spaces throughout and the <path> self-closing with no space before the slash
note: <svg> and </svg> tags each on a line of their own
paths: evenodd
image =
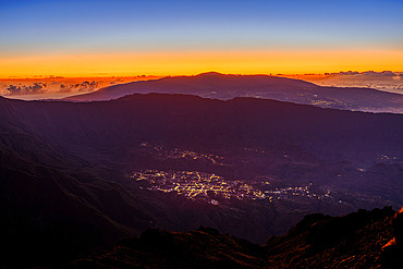
<svg viewBox="0 0 403 269">
<path fill-rule="evenodd" d="M 309 199 L 331 198 L 330 191 L 321 195 L 312 192 L 307 186 L 289 186 L 272 188 L 269 181 L 246 182 L 230 181 L 222 176 L 197 171 L 159 171 L 145 170 L 135 172 L 131 176 L 141 184 L 141 189 L 174 193 L 188 199 L 204 200 L 219 205 L 220 200 L 228 199 L 295 199 L 306 197 Z"/>
</svg>

